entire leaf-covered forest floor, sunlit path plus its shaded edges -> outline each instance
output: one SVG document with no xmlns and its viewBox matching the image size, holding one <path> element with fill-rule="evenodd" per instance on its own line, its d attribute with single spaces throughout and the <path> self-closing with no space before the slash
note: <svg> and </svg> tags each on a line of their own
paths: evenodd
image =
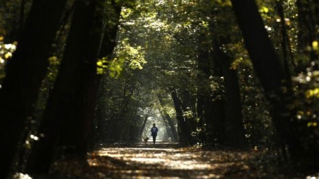
<svg viewBox="0 0 319 179">
<path fill-rule="evenodd" d="M 85 162 L 58 160 L 50 178 L 311 178 L 285 165 L 265 163 L 262 153 L 137 143 L 101 148 Z"/>
</svg>

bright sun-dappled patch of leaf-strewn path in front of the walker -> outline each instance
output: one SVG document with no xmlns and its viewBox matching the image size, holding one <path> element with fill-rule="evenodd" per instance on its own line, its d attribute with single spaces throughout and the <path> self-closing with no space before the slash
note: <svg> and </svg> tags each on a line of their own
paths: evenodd
<svg viewBox="0 0 319 179">
<path fill-rule="evenodd" d="M 158 147 L 157 147 L 158 146 Z M 173 148 L 172 144 L 103 148 L 91 159 L 92 167 L 107 167 L 114 178 L 225 178 L 247 176 L 244 152 Z"/>
</svg>

